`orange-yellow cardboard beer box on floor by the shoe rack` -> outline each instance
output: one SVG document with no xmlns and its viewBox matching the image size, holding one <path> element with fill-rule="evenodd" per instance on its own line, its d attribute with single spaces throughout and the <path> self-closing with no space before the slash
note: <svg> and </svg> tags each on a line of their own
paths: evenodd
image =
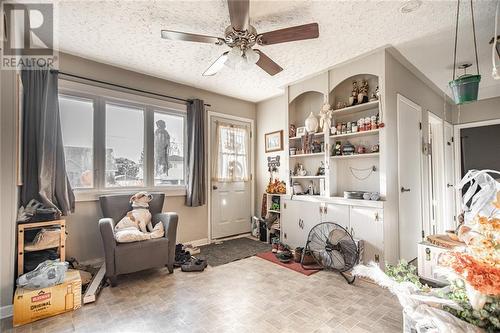
<svg viewBox="0 0 500 333">
<path fill-rule="evenodd" d="M 30 290 L 17 288 L 14 294 L 13 325 L 19 326 L 33 321 L 73 311 L 82 306 L 82 281 L 80 273 L 68 270 L 62 284 Z"/>
</svg>

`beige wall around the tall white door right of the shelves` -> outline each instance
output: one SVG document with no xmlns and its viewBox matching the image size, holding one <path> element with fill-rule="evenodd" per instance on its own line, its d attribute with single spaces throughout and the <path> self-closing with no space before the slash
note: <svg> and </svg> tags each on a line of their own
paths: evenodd
<svg viewBox="0 0 500 333">
<path fill-rule="evenodd" d="M 441 93 L 429 87 L 420 80 L 406 66 L 401 64 L 390 53 L 386 52 L 386 87 L 385 87 L 385 125 L 387 135 L 387 205 L 398 205 L 398 143 L 397 143 L 397 94 L 401 94 L 422 107 L 422 135 L 423 141 L 428 142 L 429 116 L 432 112 L 441 119 L 450 120 L 452 106 Z M 429 223 L 429 168 L 428 157 L 423 161 L 423 211 L 424 226 Z M 386 206 L 387 206 L 386 205 Z M 390 211 L 398 212 L 397 207 L 390 207 Z M 391 217 L 398 219 L 397 216 Z M 386 216 L 384 216 L 384 222 Z M 416 246 L 416 244 L 415 244 Z"/>
</svg>

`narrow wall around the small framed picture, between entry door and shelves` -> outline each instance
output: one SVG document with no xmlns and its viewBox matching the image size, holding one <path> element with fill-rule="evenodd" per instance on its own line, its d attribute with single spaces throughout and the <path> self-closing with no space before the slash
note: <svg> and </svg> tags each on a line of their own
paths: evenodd
<svg viewBox="0 0 500 333">
<path fill-rule="evenodd" d="M 281 180 L 288 181 L 288 131 L 287 128 L 287 95 L 281 95 L 272 99 L 257 103 L 257 126 L 256 126 L 256 167 L 255 167 L 255 215 L 260 216 L 262 208 L 262 194 L 266 191 L 269 182 L 269 171 L 267 170 L 267 157 L 280 156 L 280 167 L 278 175 Z M 266 153 L 264 135 L 269 132 L 283 130 L 283 150 Z"/>
</svg>

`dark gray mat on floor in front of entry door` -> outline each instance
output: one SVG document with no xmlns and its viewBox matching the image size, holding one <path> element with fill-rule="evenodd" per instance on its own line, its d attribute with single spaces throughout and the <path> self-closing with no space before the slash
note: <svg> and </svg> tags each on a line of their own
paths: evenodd
<svg viewBox="0 0 500 333">
<path fill-rule="evenodd" d="M 243 237 L 201 246 L 195 256 L 207 260 L 210 266 L 220 266 L 270 249 L 270 244 Z"/>
</svg>

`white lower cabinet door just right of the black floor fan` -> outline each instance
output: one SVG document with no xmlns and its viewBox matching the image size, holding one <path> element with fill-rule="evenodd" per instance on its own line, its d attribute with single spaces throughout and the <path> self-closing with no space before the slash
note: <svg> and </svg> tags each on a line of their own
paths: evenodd
<svg viewBox="0 0 500 333">
<path fill-rule="evenodd" d="M 363 262 L 384 263 L 383 210 L 351 206 L 351 233 L 353 238 L 363 240 Z"/>
</svg>

